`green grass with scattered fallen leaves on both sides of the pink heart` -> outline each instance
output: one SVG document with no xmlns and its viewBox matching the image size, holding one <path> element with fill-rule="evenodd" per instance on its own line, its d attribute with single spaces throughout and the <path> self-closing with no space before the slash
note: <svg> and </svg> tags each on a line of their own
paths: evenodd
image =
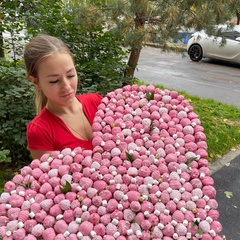
<svg viewBox="0 0 240 240">
<path fill-rule="evenodd" d="M 156 87 L 164 89 L 163 86 L 156 85 Z M 217 161 L 240 145 L 240 108 L 222 104 L 212 99 L 201 99 L 180 91 L 178 93 L 190 101 L 204 127 L 210 163 Z M 22 166 L 20 163 L 14 162 L 0 164 L 0 192 L 3 191 L 4 183 L 10 180 Z"/>
</svg>

